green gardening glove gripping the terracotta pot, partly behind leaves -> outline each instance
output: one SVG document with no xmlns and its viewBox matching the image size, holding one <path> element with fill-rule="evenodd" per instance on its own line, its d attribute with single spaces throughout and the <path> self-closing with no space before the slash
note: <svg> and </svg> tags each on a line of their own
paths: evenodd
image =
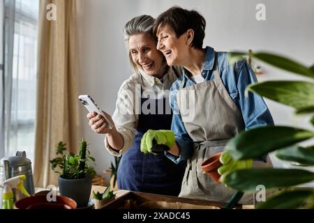
<svg viewBox="0 0 314 223">
<path fill-rule="evenodd" d="M 228 151 L 224 151 L 219 161 L 223 164 L 223 166 L 218 168 L 218 174 L 220 174 L 220 181 L 224 183 L 225 176 L 230 173 L 230 171 L 234 171 L 236 169 L 248 169 L 252 167 L 253 160 L 239 160 L 235 161 L 232 159 Z"/>
</svg>

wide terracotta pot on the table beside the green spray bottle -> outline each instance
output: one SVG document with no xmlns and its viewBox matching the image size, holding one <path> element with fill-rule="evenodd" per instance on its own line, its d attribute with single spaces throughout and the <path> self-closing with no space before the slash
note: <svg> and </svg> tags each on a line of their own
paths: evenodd
<svg viewBox="0 0 314 223">
<path fill-rule="evenodd" d="M 77 203 L 69 197 L 57 195 L 57 201 L 47 201 L 46 195 L 25 197 L 15 202 L 18 209 L 75 209 Z"/>
</svg>

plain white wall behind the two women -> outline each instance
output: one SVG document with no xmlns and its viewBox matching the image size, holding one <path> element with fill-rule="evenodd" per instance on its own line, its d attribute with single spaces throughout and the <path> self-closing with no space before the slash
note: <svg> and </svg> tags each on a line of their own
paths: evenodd
<svg viewBox="0 0 314 223">
<path fill-rule="evenodd" d="M 156 17 L 171 6 L 196 9 L 207 20 L 204 45 L 219 51 L 267 50 L 297 59 L 310 66 L 314 63 L 314 1 L 312 0 L 82 0 L 79 16 L 81 76 L 80 93 L 92 95 L 99 106 L 112 114 L 119 86 L 131 74 L 124 47 L 122 29 L 130 18 L 141 14 Z M 266 21 L 255 19 L 255 6 L 264 3 Z M 259 64 L 260 65 L 260 64 Z M 264 66 L 267 79 L 296 79 L 280 70 Z M 301 125 L 306 121 L 292 117 L 292 109 L 266 100 L 276 124 Z M 105 151 L 103 136 L 92 132 L 86 112 L 81 108 L 82 136 L 89 139 L 96 157 L 97 170 L 110 167 L 112 156 Z M 273 159 L 273 162 L 282 165 Z"/>
</svg>

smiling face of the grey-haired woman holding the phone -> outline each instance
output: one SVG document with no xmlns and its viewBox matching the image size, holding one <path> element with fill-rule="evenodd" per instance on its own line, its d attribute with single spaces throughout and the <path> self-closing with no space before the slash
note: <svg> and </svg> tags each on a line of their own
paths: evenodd
<svg viewBox="0 0 314 223">
<path fill-rule="evenodd" d="M 163 77 L 167 64 L 163 63 L 163 54 L 156 49 L 156 40 L 151 36 L 139 33 L 130 36 L 128 40 L 130 55 L 137 68 L 147 75 Z"/>
</svg>

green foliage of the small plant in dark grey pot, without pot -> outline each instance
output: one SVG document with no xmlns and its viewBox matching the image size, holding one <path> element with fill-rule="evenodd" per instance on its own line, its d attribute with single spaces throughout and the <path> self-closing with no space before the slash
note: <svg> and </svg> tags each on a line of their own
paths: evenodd
<svg viewBox="0 0 314 223">
<path fill-rule="evenodd" d="M 90 156 L 85 139 L 82 139 L 80 144 L 79 155 L 74 155 L 66 151 L 66 144 L 63 141 L 59 142 L 56 152 L 59 157 L 50 160 L 50 163 L 52 170 L 60 174 L 61 178 L 80 179 L 94 176 L 94 167 L 90 167 L 89 162 L 95 162 L 95 158 Z"/>
</svg>

